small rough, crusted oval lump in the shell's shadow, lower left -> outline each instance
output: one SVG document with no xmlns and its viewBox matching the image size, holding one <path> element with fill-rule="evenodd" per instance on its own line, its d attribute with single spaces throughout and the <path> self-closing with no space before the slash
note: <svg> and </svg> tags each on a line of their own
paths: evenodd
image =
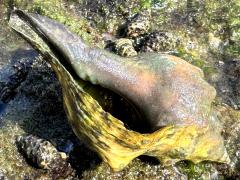
<svg viewBox="0 0 240 180">
<path fill-rule="evenodd" d="M 67 162 L 67 155 L 58 152 L 49 141 L 29 135 L 19 136 L 16 144 L 30 163 L 48 170 L 53 178 L 67 177 L 72 173 L 70 164 Z"/>
</svg>

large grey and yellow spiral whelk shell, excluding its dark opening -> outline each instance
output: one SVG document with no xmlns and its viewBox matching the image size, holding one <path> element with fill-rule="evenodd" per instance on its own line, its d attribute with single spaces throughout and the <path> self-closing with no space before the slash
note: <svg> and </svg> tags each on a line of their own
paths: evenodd
<svg viewBox="0 0 240 180">
<path fill-rule="evenodd" d="M 75 134 L 114 170 L 141 154 L 166 164 L 182 159 L 229 161 L 220 131 L 209 123 L 216 92 L 199 68 L 166 54 L 122 58 L 91 48 L 63 25 L 40 15 L 15 11 L 10 25 L 48 58 L 62 85 Z M 130 100 L 156 131 L 127 130 L 85 91 L 88 82 Z"/>
</svg>

